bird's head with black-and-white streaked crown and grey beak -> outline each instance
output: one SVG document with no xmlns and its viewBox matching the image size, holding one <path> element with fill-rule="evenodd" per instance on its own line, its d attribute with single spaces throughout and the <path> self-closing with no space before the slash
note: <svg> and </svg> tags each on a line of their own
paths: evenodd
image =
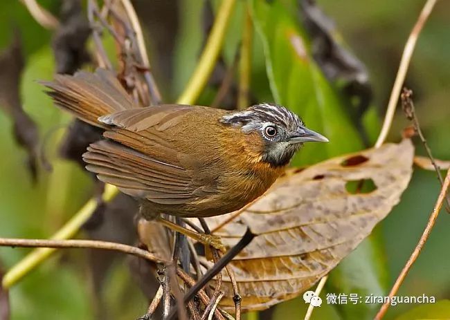
<svg viewBox="0 0 450 320">
<path fill-rule="evenodd" d="M 237 126 L 243 133 L 258 133 L 264 143 L 262 161 L 275 167 L 288 164 L 304 142 L 328 142 L 307 129 L 298 115 L 277 104 L 255 104 L 224 115 L 220 122 Z"/>
</svg>

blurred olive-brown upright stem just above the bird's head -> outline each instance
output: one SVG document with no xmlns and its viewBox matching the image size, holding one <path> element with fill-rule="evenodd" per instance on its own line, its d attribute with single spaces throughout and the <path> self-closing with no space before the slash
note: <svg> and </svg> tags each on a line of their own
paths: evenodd
<svg viewBox="0 0 450 320">
<path fill-rule="evenodd" d="M 251 77 L 251 46 L 253 44 L 253 22 L 251 20 L 249 3 L 246 4 L 244 28 L 242 31 L 242 45 L 239 62 L 239 94 L 237 109 L 249 106 L 250 77 Z"/>
</svg>

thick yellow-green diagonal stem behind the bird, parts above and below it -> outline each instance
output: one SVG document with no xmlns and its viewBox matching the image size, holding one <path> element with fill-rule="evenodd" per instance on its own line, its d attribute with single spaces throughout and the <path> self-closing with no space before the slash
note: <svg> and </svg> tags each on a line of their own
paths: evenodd
<svg viewBox="0 0 450 320">
<path fill-rule="evenodd" d="M 213 29 L 210 32 L 204 51 L 201 54 L 199 64 L 190 78 L 185 91 L 177 100 L 179 104 L 194 104 L 206 85 L 210 74 L 213 72 L 219 51 L 222 48 L 226 27 L 228 26 L 234 5 L 235 0 L 223 0 L 219 12 L 217 13 Z M 118 189 L 116 187 L 106 185 L 102 198 L 105 202 L 108 202 L 114 198 L 117 193 Z M 80 211 L 78 211 L 73 218 L 71 218 L 71 220 L 69 220 L 66 225 L 51 238 L 58 240 L 73 238 L 82 225 L 91 217 L 95 209 L 96 200 L 89 200 Z M 5 276 L 3 276 L 1 283 L 3 288 L 11 288 L 12 285 L 15 285 L 15 283 L 28 274 L 28 272 L 33 270 L 37 265 L 55 252 L 55 250 L 55 248 L 39 248 L 30 252 L 30 254 L 19 261 L 19 263 L 12 266 Z"/>
</svg>

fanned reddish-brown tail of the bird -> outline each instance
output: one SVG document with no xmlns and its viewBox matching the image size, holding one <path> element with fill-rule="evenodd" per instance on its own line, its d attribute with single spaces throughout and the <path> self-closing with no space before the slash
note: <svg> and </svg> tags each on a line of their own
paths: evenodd
<svg viewBox="0 0 450 320">
<path fill-rule="evenodd" d="M 40 82 L 57 106 L 84 122 L 107 128 L 98 117 L 137 108 L 127 91 L 109 70 L 95 73 L 79 71 L 75 75 L 56 75 L 53 82 Z"/>
</svg>

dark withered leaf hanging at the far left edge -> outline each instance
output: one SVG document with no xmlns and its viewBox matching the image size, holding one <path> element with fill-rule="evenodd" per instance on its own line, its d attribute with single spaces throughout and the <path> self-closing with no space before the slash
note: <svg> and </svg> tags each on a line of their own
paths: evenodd
<svg viewBox="0 0 450 320">
<path fill-rule="evenodd" d="M 15 139 L 28 152 L 28 169 L 33 180 L 36 180 L 39 134 L 35 122 L 22 109 L 19 88 L 23 68 L 24 56 L 16 33 L 12 44 L 0 55 L 0 108 L 8 113 L 14 123 Z M 43 162 L 46 164 L 44 159 Z"/>
</svg>

